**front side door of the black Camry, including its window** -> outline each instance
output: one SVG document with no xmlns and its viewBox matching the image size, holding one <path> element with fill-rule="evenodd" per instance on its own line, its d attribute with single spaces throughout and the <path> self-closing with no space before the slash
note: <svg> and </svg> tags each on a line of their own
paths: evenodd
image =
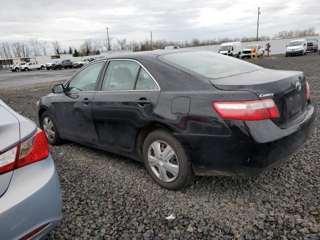
<svg viewBox="0 0 320 240">
<path fill-rule="evenodd" d="M 105 61 L 90 64 L 81 69 L 65 85 L 53 103 L 55 119 L 61 135 L 96 141 L 92 122 L 92 100 Z"/>
</svg>

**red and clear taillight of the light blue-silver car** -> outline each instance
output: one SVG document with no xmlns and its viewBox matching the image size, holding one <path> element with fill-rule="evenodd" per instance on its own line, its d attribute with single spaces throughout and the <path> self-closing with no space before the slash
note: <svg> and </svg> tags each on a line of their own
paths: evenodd
<svg viewBox="0 0 320 240">
<path fill-rule="evenodd" d="M 49 154 L 49 146 L 41 129 L 20 142 L 18 145 L 0 154 L 0 174 L 45 159 Z"/>
</svg>

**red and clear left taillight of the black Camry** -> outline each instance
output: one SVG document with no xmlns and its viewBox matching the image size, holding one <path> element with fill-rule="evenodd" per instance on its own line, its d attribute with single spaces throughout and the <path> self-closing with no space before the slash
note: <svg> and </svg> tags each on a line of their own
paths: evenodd
<svg viewBox="0 0 320 240">
<path fill-rule="evenodd" d="M 216 101 L 213 102 L 216 112 L 226 119 L 263 120 L 280 117 L 272 99 L 253 101 Z"/>
</svg>

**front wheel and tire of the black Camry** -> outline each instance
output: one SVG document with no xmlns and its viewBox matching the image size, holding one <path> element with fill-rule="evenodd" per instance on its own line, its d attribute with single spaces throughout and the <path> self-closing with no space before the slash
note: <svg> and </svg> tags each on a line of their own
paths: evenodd
<svg viewBox="0 0 320 240">
<path fill-rule="evenodd" d="M 51 145 L 59 145 L 62 143 L 58 128 L 53 117 L 48 111 L 42 113 L 40 127 L 44 131 L 46 139 Z"/>
</svg>

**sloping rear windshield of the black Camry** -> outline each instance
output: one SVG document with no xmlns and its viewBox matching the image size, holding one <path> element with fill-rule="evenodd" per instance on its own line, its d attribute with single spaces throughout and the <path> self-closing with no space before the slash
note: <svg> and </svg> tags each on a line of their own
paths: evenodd
<svg viewBox="0 0 320 240">
<path fill-rule="evenodd" d="M 252 63 L 212 51 L 174 52 L 161 55 L 159 59 L 192 75 L 210 78 L 226 77 L 262 69 Z"/>
</svg>

